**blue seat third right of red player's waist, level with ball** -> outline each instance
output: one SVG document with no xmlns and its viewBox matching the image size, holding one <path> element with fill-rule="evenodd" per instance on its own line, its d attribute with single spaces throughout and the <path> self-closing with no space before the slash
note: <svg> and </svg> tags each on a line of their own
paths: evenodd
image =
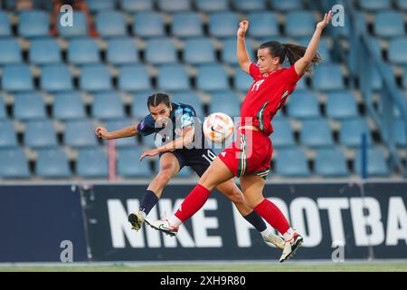
<svg viewBox="0 0 407 290">
<path fill-rule="evenodd" d="M 369 125 L 363 118 L 342 121 L 339 131 L 339 141 L 342 145 L 358 147 L 362 143 L 362 134 L 366 133 L 367 144 L 372 144 Z"/>
</svg>

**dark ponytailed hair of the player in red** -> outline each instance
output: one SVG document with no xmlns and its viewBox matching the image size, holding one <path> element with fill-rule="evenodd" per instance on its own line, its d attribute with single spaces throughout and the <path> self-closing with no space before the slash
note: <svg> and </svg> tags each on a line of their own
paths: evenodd
<svg viewBox="0 0 407 290">
<path fill-rule="evenodd" d="M 279 57 L 279 63 L 284 63 L 287 58 L 289 64 L 291 65 L 296 63 L 301 57 L 303 57 L 307 50 L 307 47 L 305 46 L 300 46 L 292 43 L 279 43 L 276 41 L 261 43 L 259 49 L 260 48 L 269 48 L 271 56 Z M 306 73 L 311 73 L 314 66 L 321 61 L 321 55 L 318 52 L 315 53 L 314 58 L 306 69 Z"/>
</svg>

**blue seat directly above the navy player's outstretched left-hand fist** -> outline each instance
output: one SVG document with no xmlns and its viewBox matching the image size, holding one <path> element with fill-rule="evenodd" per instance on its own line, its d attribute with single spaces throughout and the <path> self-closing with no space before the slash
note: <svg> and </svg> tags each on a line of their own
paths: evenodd
<svg viewBox="0 0 407 290">
<path fill-rule="evenodd" d="M 98 92 L 92 104 L 92 117 L 100 120 L 124 118 L 123 102 L 116 92 Z"/>
</svg>

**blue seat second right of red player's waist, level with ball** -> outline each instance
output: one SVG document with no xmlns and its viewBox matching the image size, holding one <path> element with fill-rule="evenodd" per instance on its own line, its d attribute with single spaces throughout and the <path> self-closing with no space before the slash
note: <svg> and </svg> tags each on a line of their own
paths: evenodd
<svg viewBox="0 0 407 290">
<path fill-rule="evenodd" d="M 326 119 L 304 120 L 299 134 L 302 145 L 314 148 L 332 147 L 334 140 Z"/>
</svg>

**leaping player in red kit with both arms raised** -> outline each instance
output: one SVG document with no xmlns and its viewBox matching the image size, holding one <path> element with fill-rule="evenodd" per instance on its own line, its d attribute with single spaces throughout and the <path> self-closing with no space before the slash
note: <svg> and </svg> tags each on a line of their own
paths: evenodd
<svg viewBox="0 0 407 290">
<path fill-rule="evenodd" d="M 213 161 L 175 215 L 169 219 L 148 222 L 151 227 L 175 235 L 179 226 L 204 206 L 218 184 L 238 177 L 247 204 L 279 230 L 285 239 L 279 261 L 284 262 L 294 255 L 303 238 L 289 227 L 287 218 L 279 208 L 269 199 L 263 198 L 262 194 L 272 155 L 269 135 L 273 129 L 270 121 L 295 90 L 303 74 L 311 71 L 312 64 L 321 61 L 317 53 L 318 41 L 332 16 L 329 11 L 324 20 L 317 24 L 307 48 L 273 41 L 262 43 L 257 52 L 257 64 L 251 63 L 244 42 L 249 22 L 240 23 L 237 58 L 241 69 L 249 73 L 254 82 L 241 104 L 241 122 L 237 131 L 239 138 Z M 282 67 L 286 58 L 291 64 L 289 68 Z"/>
</svg>

